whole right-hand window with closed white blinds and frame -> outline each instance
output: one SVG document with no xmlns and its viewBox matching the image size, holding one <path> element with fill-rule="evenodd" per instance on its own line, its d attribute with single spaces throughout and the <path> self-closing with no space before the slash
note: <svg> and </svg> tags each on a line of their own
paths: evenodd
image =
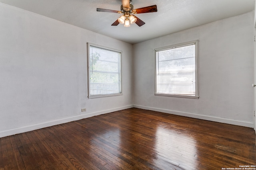
<svg viewBox="0 0 256 170">
<path fill-rule="evenodd" d="M 159 96 L 198 98 L 197 41 L 156 49 L 156 93 Z"/>
</svg>

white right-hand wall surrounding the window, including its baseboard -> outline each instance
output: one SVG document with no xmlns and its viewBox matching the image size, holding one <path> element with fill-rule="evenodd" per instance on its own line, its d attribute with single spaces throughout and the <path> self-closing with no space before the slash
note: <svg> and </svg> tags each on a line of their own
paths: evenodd
<svg viewBox="0 0 256 170">
<path fill-rule="evenodd" d="M 154 49 L 198 40 L 199 99 L 154 96 Z M 133 45 L 134 107 L 254 126 L 254 12 Z"/>
</svg>

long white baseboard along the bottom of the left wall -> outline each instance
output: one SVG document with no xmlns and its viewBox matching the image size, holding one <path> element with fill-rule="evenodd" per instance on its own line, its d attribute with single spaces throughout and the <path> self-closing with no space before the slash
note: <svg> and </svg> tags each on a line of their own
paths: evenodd
<svg viewBox="0 0 256 170">
<path fill-rule="evenodd" d="M 78 116 L 74 116 L 74 117 L 67 117 L 67 118 L 64 118 L 64 119 L 48 121 L 48 122 L 39 123 L 39 124 L 35 124 L 35 125 L 20 127 L 20 128 L 17 128 L 17 129 L 11 129 L 11 130 L 8 130 L 8 131 L 2 131 L 2 132 L 0 132 L 0 138 L 10 136 L 10 135 L 19 134 L 19 133 L 24 133 L 24 132 L 28 132 L 28 131 L 33 131 L 33 130 L 36 130 L 36 129 L 42 129 L 42 128 L 50 127 L 50 126 L 54 126 L 54 125 L 60 125 L 62 123 L 68 123 L 68 122 L 71 122 L 71 121 L 85 119 L 85 118 L 92 117 L 92 116 L 102 115 L 102 114 L 105 114 L 105 113 L 111 113 L 111 112 L 114 112 L 114 111 L 129 109 L 129 108 L 132 108 L 132 107 L 133 107 L 133 105 L 116 107 L 116 108 L 113 108 L 113 109 L 96 111 L 96 112 L 93 112 L 93 113 L 87 113 L 87 114 L 78 115 Z"/>
</svg>

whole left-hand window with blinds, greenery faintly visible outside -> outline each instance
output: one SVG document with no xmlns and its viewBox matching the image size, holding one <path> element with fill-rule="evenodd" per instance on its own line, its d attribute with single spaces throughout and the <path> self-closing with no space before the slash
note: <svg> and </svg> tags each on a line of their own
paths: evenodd
<svg viewBox="0 0 256 170">
<path fill-rule="evenodd" d="M 122 95 L 121 51 L 88 43 L 88 98 Z"/>
</svg>

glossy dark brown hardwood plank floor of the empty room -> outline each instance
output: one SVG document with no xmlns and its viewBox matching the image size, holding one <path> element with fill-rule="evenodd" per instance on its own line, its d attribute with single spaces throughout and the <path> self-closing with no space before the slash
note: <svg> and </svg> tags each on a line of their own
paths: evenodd
<svg viewBox="0 0 256 170">
<path fill-rule="evenodd" d="M 222 170 L 246 165 L 256 168 L 252 128 L 136 108 L 0 138 L 0 170 Z"/>
</svg>

